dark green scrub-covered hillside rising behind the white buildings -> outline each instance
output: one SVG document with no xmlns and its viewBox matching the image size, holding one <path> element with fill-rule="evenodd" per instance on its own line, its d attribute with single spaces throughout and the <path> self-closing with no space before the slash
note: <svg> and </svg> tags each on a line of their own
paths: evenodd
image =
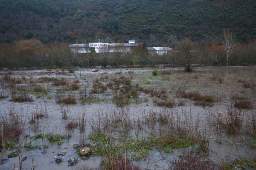
<svg viewBox="0 0 256 170">
<path fill-rule="evenodd" d="M 127 42 L 169 45 L 190 37 L 221 42 L 256 38 L 255 0 L 0 0 L 0 42 L 35 38 L 43 44 Z"/>
</svg>

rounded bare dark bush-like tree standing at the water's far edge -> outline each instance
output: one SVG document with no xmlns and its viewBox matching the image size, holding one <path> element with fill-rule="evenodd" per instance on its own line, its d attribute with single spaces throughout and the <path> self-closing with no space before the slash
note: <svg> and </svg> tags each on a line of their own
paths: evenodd
<svg viewBox="0 0 256 170">
<path fill-rule="evenodd" d="M 183 65 L 187 72 L 193 71 L 201 60 L 198 54 L 198 46 L 192 42 L 190 38 L 181 40 L 178 46 L 178 55 L 176 61 L 179 65 Z"/>
</svg>

